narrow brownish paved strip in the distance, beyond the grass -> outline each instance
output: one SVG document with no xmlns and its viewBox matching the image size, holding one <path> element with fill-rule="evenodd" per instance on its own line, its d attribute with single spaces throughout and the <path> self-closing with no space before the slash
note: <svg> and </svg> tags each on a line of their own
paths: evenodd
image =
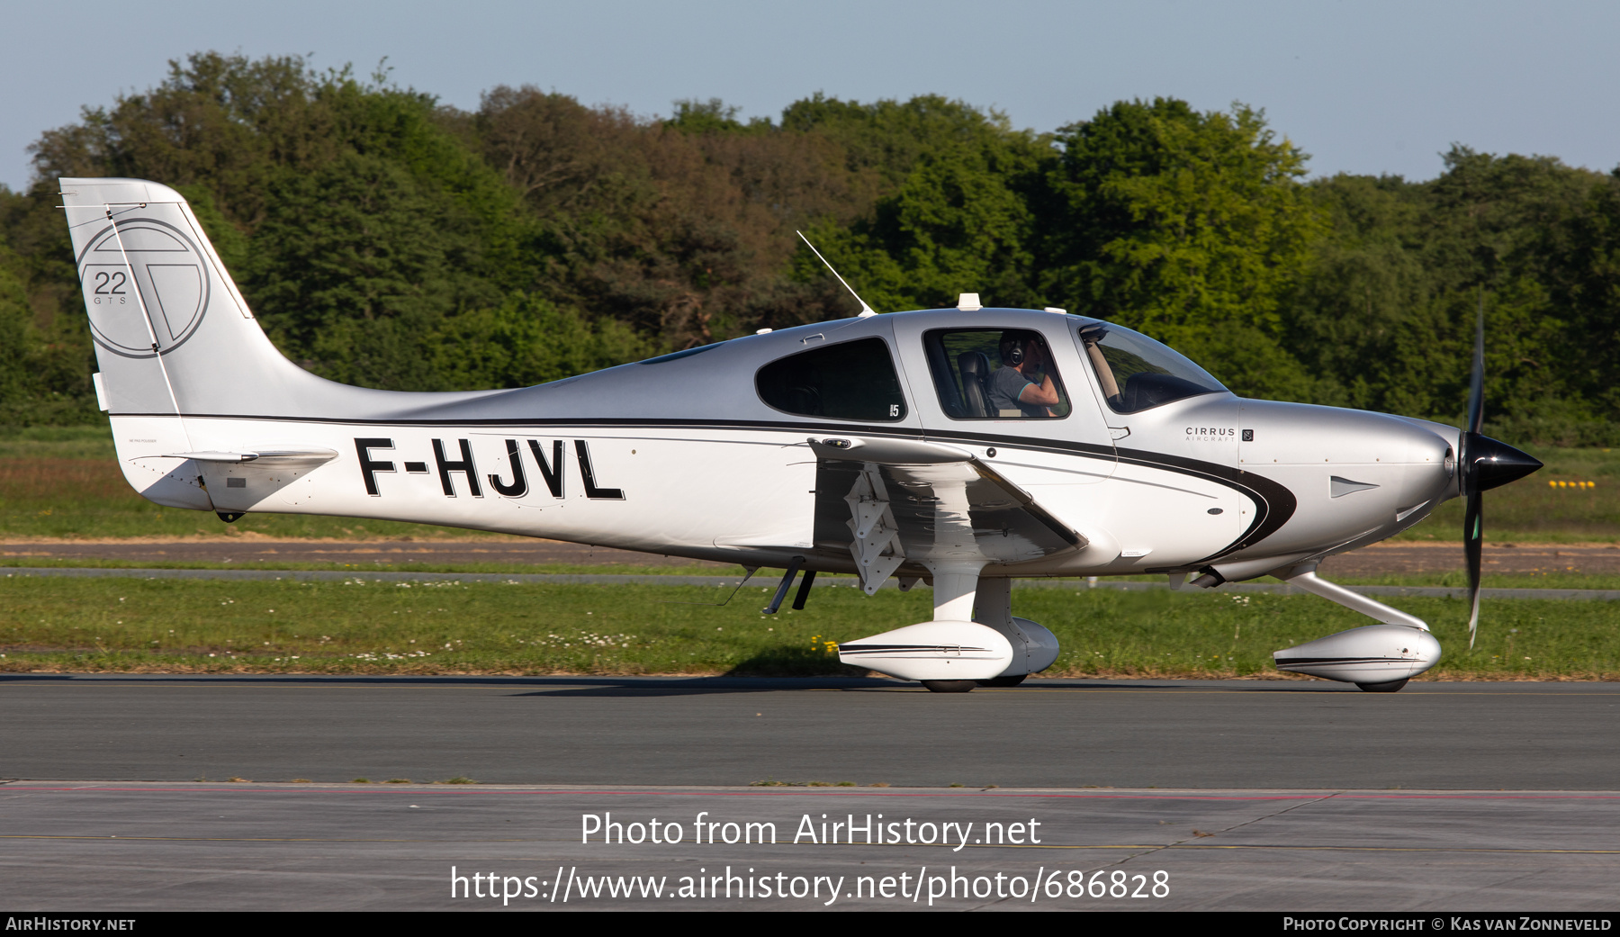
<svg viewBox="0 0 1620 937">
<path fill-rule="evenodd" d="M 330 563 L 355 569 L 411 569 L 452 564 L 580 564 L 580 566 L 695 566 L 726 571 L 726 564 L 633 553 L 551 540 L 266 540 L 259 537 L 209 540 L 105 540 L 0 543 L 0 563 L 28 566 L 29 559 L 118 559 L 123 563 L 232 563 L 272 569 L 298 563 Z M 1330 556 L 1322 575 L 1443 574 L 1464 569 L 1461 543 L 1409 540 Z M 1486 543 L 1486 572 L 1620 572 L 1614 543 Z"/>
</svg>

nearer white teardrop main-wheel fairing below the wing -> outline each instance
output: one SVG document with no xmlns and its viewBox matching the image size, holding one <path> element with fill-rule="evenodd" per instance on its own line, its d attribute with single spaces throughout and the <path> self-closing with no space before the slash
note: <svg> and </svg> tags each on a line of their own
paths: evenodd
<svg viewBox="0 0 1620 937">
<path fill-rule="evenodd" d="M 1013 644 L 977 621 L 923 621 L 838 645 L 838 660 L 901 679 L 990 679 L 1009 673 L 1013 657 Z"/>
</svg>

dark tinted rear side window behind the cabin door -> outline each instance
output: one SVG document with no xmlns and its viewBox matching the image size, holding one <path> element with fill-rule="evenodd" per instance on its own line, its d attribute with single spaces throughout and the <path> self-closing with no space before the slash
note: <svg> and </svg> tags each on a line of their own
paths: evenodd
<svg viewBox="0 0 1620 937">
<path fill-rule="evenodd" d="M 906 397 L 883 339 L 857 339 L 771 362 L 753 376 L 760 399 L 799 417 L 893 421 Z"/>
</svg>

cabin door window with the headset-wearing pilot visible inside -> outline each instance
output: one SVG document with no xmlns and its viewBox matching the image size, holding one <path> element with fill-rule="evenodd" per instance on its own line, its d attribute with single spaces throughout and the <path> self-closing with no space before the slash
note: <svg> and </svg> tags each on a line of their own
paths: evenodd
<svg viewBox="0 0 1620 937">
<path fill-rule="evenodd" d="M 1069 415 L 1051 349 L 1029 329 L 923 336 L 940 407 L 953 420 L 1058 420 Z"/>
</svg>

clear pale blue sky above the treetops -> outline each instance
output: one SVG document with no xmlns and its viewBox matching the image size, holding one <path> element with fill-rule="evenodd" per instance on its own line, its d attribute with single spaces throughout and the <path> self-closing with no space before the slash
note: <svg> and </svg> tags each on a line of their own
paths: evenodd
<svg viewBox="0 0 1620 937">
<path fill-rule="evenodd" d="M 0 183 L 83 105 L 190 52 L 306 53 L 471 109 L 496 84 L 667 115 L 719 97 L 779 117 L 815 91 L 944 94 L 1055 130 L 1113 101 L 1265 109 L 1311 172 L 1430 178 L 1440 152 L 1620 164 L 1620 3 L 1136 0 L 87 0 L 0 5 Z"/>
</svg>

